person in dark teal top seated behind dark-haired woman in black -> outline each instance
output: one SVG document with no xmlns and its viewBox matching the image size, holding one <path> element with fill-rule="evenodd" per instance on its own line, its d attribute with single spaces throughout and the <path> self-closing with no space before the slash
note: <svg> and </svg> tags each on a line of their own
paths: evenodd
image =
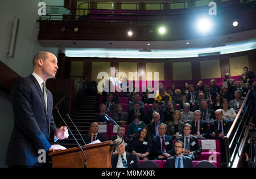
<svg viewBox="0 0 256 179">
<path fill-rule="evenodd" d="M 143 128 L 146 127 L 146 124 L 141 121 L 138 113 L 133 114 L 133 122 L 130 123 L 128 128 L 128 137 L 132 138 L 138 134 L 138 132 Z"/>
</svg>

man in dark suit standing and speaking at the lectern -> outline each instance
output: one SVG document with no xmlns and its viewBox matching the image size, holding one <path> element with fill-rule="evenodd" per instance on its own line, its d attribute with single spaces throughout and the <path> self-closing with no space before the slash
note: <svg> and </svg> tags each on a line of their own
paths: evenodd
<svg viewBox="0 0 256 179">
<path fill-rule="evenodd" d="M 52 93 L 45 83 L 57 73 L 57 58 L 52 53 L 39 52 L 33 59 L 33 66 L 32 75 L 16 80 L 10 94 L 14 128 L 5 161 L 9 167 L 47 167 L 39 163 L 39 150 L 64 150 L 65 147 L 51 146 L 49 142 L 68 138 L 67 127 L 56 128 Z"/>
</svg>

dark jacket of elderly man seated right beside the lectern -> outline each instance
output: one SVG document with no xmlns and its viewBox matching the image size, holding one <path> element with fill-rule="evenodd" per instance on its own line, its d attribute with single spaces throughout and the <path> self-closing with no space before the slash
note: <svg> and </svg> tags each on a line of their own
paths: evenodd
<svg viewBox="0 0 256 179">
<path fill-rule="evenodd" d="M 136 154 L 126 152 L 128 168 L 139 168 L 139 160 Z M 131 163 L 133 161 L 133 163 Z M 112 156 L 112 167 L 117 168 L 118 154 Z"/>
</svg>

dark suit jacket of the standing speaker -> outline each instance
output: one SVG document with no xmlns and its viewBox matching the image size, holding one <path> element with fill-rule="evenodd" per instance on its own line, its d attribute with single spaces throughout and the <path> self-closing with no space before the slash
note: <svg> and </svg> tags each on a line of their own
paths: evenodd
<svg viewBox="0 0 256 179">
<path fill-rule="evenodd" d="M 52 116 L 52 93 L 46 89 L 48 112 L 43 92 L 33 75 L 19 78 L 11 90 L 14 128 L 6 155 L 8 166 L 40 167 L 38 150 L 51 148 L 56 132 Z"/>
</svg>

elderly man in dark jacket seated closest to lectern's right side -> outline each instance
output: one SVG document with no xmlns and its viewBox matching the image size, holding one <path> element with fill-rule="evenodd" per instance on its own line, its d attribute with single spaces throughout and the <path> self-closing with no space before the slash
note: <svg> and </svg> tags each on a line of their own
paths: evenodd
<svg viewBox="0 0 256 179">
<path fill-rule="evenodd" d="M 122 139 L 115 139 L 114 142 L 121 143 Z M 112 156 L 113 168 L 139 168 L 139 161 L 136 154 L 126 152 L 124 142 L 115 147 L 115 150 L 117 150 L 117 154 Z"/>
</svg>

